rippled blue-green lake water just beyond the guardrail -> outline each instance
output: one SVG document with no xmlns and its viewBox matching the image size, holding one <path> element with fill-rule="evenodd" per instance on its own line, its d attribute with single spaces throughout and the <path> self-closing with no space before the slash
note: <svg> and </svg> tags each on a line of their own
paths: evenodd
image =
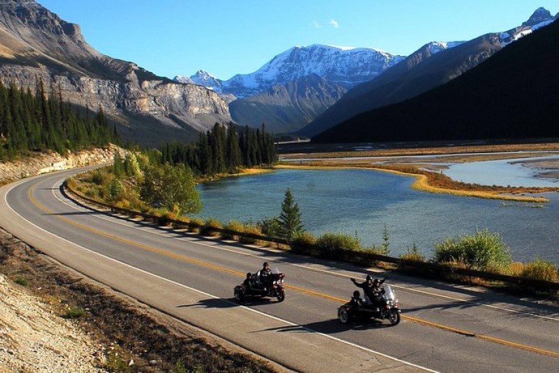
<svg viewBox="0 0 559 373">
<path fill-rule="evenodd" d="M 305 228 L 317 236 L 342 232 L 378 246 L 386 228 L 391 256 L 415 245 L 430 258 L 435 242 L 488 228 L 501 235 L 514 261 L 559 264 L 559 193 L 543 194 L 549 203 L 516 203 L 416 191 L 412 182 L 372 170 L 276 170 L 199 184 L 198 216 L 223 223 L 277 216 L 290 188 Z"/>
</svg>

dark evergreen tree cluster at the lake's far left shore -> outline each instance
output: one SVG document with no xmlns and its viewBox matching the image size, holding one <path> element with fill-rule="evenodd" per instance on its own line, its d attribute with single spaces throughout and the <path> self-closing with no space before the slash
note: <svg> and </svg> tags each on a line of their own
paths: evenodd
<svg viewBox="0 0 559 373">
<path fill-rule="evenodd" d="M 168 142 L 159 147 L 160 163 L 184 164 L 194 175 L 234 173 L 242 167 L 270 166 L 277 161 L 273 135 L 248 126 L 216 123 L 198 142 Z"/>
</svg>

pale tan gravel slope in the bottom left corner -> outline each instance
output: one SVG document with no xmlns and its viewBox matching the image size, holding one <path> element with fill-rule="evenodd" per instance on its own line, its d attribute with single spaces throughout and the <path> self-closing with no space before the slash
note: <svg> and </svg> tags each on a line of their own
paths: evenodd
<svg viewBox="0 0 559 373">
<path fill-rule="evenodd" d="M 0 275 L 1 372 L 105 372 L 103 346 Z"/>
</svg>

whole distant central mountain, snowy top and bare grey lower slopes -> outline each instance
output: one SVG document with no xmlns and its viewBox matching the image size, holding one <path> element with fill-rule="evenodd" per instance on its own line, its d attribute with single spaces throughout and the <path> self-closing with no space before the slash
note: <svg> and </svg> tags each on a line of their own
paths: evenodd
<svg viewBox="0 0 559 373">
<path fill-rule="evenodd" d="M 229 80 L 203 70 L 190 77 L 177 75 L 175 80 L 219 93 L 229 103 L 233 121 L 242 126 L 265 123 L 274 133 L 287 133 L 303 128 L 347 89 L 375 78 L 403 58 L 372 48 L 310 45 L 286 50 L 258 71 Z"/>
</svg>

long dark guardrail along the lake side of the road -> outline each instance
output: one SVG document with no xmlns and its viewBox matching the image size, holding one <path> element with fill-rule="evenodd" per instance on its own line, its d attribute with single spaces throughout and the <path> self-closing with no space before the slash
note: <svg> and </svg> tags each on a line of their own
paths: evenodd
<svg viewBox="0 0 559 373">
<path fill-rule="evenodd" d="M 64 190 L 65 189 L 65 190 Z M 231 236 L 237 236 L 240 237 L 240 240 L 242 240 L 242 238 L 245 239 L 250 239 L 250 240 L 258 240 L 258 241 L 263 241 L 263 242 L 273 242 L 275 244 L 283 244 L 286 246 L 289 246 L 293 252 L 295 253 L 305 253 L 305 254 L 310 254 L 310 253 L 314 253 L 317 254 L 316 256 L 319 257 L 324 257 L 324 255 L 320 254 L 320 249 L 318 249 L 317 247 L 294 247 L 292 242 L 289 242 L 288 240 L 284 239 L 284 238 L 280 238 L 280 237 L 268 237 L 268 236 L 264 236 L 264 235 L 256 235 L 254 233 L 245 233 L 245 232 L 238 232 L 238 231 L 233 231 L 231 229 L 228 228 L 217 228 L 217 227 L 208 227 L 205 226 L 204 224 L 198 224 L 194 221 L 192 222 L 187 222 L 187 221 L 181 221 L 181 220 L 175 220 L 175 219 L 168 219 L 167 217 L 158 217 L 152 214 L 145 214 L 143 212 L 138 212 L 138 211 L 134 211 L 134 210 L 129 210 L 129 209 L 125 209 L 122 207 L 115 207 L 112 205 L 108 205 L 107 203 L 103 203 L 100 202 L 98 200 L 94 200 L 92 198 L 89 198 L 87 196 L 83 196 L 82 193 L 79 193 L 78 191 L 74 191 L 73 189 L 71 189 L 68 184 L 66 183 L 66 181 L 64 182 L 64 188 L 63 188 L 63 193 L 68 197 L 71 198 L 73 200 L 75 200 L 75 198 L 72 198 L 71 196 L 68 195 L 68 193 L 66 193 L 66 191 L 69 191 L 70 193 L 73 193 L 75 196 L 77 196 L 78 198 L 85 200 L 87 203 L 92 203 L 94 205 L 99 205 L 101 207 L 106 207 L 107 209 L 111 210 L 111 212 L 118 212 L 121 214 L 126 214 L 129 216 L 140 216 L 143 217 L 144 219 L 147 219 L 149 221 L 154 221 L 154 222 L 158 222 L 161 225 L 166 225 L 166 224 L 173 224 L 174 226 L 177 227 L 185 227 L 185 228 L 189 228 L 189 229 L 202 229 L 205 228 L 208 231 L 211 232 L 216 232 L 216 233 L 222 233 L 225 235 L 231 235 Z M 80 203 L 80 201 L 77 201 L 78 203 Z M 333 254 L 333 253 L 330 253 Z M 361 264 L 361 265 L 365 265 L 365 266 L 371 266 L 374 265 L 375 262 L 384 262 L 384 263 L 393 263 L 395 265 L 398 265 L 398 268 L 406 268 L 408 270 L 412 270 L 414 272 L 427 272 L 427 273 L 433 273 L 433 274 L 442 274 L 442 275 L 460 275 L 460 276 L 464 276 L 464 277 L 479 277 L 481 279 L 488 279 L 488 280 L 493 280 L 493 281 L 502 281 L 506 284 L 509 285 L 517 285 L 517 286 L 525 286 L 525 287 L 531 287 L 531 288 L 535 288 L 539 291 L 559 291 L 559 283 L 558 282 L 552 282 L 552 281 L 545 281 L 545 280 L 540 280 L 540 279 L 530 279 L 528 277 L 516 277 L 516 276 L 509 276 L 509 275 L 501 275 L 498 273 L 493 273 L 493 272 L 484 272 L 484 271 L 479 271 L 479 270 L 470 270 L 467 268 L 459 268 L 459 267 L 455 267 L 452 265 L 445 265 L 445 264 L 440 264 L 440 263 L 429 263 L 429 262 L 423 262 L 423 261 L 413 261 L 413 260 L 409 260 L 409 259 L 404 259 L 404 258 L 394 258 L 392 256 L 384 256 L 381 254 L 375 254 L 373 252 L 368 252 L 368 251 L 350 251 L 350 250 L 344 250 L 344 249 L 338 249 L 336 251 L 335 254 L 340 254 L 340 257 L 331 257 L 332 255 L 326 255 L 327 258 L 329 259 L 340 259 L 343 258 L 344 261 L 347 261 L 349 263 L 354 263 L 354 264 Z"/>
</svg>

